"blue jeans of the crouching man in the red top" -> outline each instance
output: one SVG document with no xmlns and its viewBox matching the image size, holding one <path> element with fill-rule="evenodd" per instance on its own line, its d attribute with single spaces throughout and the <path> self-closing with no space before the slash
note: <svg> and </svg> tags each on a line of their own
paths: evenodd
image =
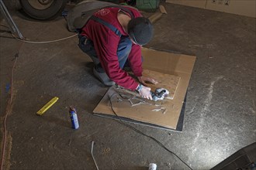
<svg viewBox="0 0 256 170">
<path fill-rule="evenodd" d="M 78 36 L 79 43 L 78 46 L 80 49 L 88 54 L 92 58 L 93 63 L 95 63 L 95 69 L 100 72 L 104 72 L 102 69 L 102 65 L 99 62 L 99 58 L 97 56 L 97 53 L 95 52 L 95 48 L 93 45 L 92 40 L 87 39 L 85 36 Z M 123 69 L 124 64 L 126 63 L 128 56 L 130 54 L 130 50 L 132 49 L 132 42 L 128 36 L 121 36 L 121 39 L 119 41 L 119 45 L 117 48 L 116 55 L 118 57 L 119 61 L 119 67 Z"/>
</svg>

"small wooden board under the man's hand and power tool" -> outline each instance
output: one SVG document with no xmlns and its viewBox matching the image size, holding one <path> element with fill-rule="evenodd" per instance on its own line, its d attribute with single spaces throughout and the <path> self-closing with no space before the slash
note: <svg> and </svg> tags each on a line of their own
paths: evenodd
<svg viewBox="0 0 256 170">
<path fill-rule="evenodd" d="M 168 99 L 172 100 L 175 97 L 178 82 L 181 79 L 180 76 L 159 73 L 157 71 L 151 70 L 144 70 L 143 75 L 153 77 L 155 80 L 157 80 L 157 84 L 148 84 L 148 87 L 151 87 L 152 91 L 156 90 L 157 88 L 164 88 L 170 92 L 168 95 Z"/>
</svg>

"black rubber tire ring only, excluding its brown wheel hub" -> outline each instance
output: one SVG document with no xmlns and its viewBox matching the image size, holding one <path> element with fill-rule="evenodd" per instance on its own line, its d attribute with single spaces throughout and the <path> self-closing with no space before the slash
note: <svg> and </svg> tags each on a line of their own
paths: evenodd
<svg viewBox="0 0 256 170">
<path fill-rule="evenodd" d="M 33 19 L 51 20 L 59 15 L 67 4 L 67 0 L 54 0 L 50 7 L 46 9 L 36 9 L 27 0 L 19 0 L 24 12 Z"/>
</svg>

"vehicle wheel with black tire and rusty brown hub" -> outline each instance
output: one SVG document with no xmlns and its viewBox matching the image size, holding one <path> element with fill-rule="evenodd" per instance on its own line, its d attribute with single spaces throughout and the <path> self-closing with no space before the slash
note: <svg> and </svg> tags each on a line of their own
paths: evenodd
<svg viewBox="0 0 256 170">
<path fill-rule="evenodd" d="M 19 0 L 24 12 L 33 19 L 50 20 L 61 14 L 67 0 Z"/>
</svg>

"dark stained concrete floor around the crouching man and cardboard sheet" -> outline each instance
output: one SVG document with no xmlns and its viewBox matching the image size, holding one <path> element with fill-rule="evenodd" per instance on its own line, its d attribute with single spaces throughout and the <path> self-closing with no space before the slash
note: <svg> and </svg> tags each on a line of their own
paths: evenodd
<svg viewBox="0 0 256 170">
<path fill-rule="evenodd" d="M 193 169 L 209 169 L 256 141 L 255 19 L 181 5 L 164 4 L 168 15 L 154 24 L 154 49 L 197 56 L 189 83 L 182 133 L 131 124 L 175 152 Z M 33 22 L 13 12 L 26 38 L 46 41 L 71 36 L 64 19 Z M 1 117 L 9 92 L 13 58 L 21 42 L 1 22 Z M 154 141 L 92 110 L 107 87 L 92 74 L 92 61 L 76 37 L 47 44 L 23 43 L 13 77 L 14 100 L 7 119 L 7 168 L 188 169 Z M 157 57 L 157 56 L 156 56 Z M 36 116 L 52 97 L 60 99 Z M 78 110 L 80 128 L 71 129 L 68 107 Z M 2 128 L 1 119 L 1 128 Z M 2 134 L 1 134 L 2 138 Z"/>
</svg>

